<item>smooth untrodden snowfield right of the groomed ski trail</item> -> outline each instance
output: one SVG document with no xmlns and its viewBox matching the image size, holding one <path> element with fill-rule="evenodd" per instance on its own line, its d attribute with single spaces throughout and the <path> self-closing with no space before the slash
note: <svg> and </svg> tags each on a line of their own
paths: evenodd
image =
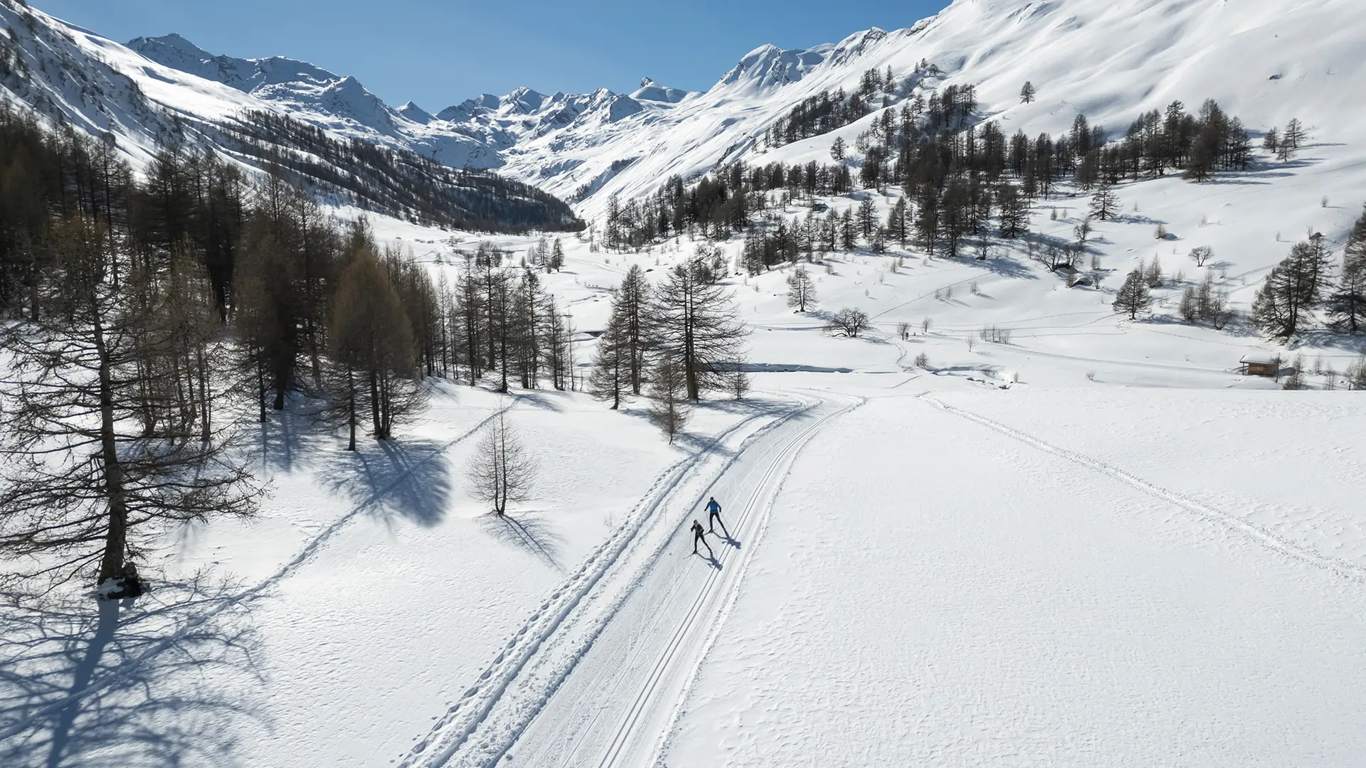
<svg viewBox="0 0 1366 768">
<path fill-rule="evenodd" d="M 1354 395 L 902 389 L 796 461 L 661 764 L 1361 765 Z"/>
</svg>

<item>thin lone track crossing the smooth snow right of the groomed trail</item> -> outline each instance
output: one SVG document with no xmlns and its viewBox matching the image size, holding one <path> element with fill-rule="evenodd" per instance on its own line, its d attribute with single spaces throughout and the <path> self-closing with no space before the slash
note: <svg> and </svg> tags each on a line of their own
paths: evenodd
<svg viewBox="0 0 1366 768">
<path fill-rule="evenodd" d="M 1188 511 L 1188 512 L 1191 512 L 1191 514 L 1194 514 L 1194 515 L 1197 515 L 1197 517 L 1199 517 L 1202 519 L 1206 519 L 1206 521 L 1209 521 L 1209 522 L 1212 522 L 1214 525 L 1223 526 L 1224 529 L 1228 529 L 1231 532 L 1239 533 L 1239 534 L 1244 536 L 1249 541 L 1251 541 L 1254 544 L 1258 544 L 1261 547 L 1265 547 L 1268 549 L 1272 549 L 1274 552 L 1279 552 L 1279 553 L 1281 553 L 1281 555 L 1284 555 L 1287 558 L 1291 558 L 1294 560 L 1299 560 L 1300 563 L 1305 563 L 1305 564 L 1309 564 L 1309 566 L 1313 566 L 1313 567 L 1317 567 L 1317 568 L 1322 568 L 1322 570 L 1329 571 L 1332 574 L 1336 574 L 1336 575 L 1339 575 L 1341 578 L 1347 578 L 1347 579 L 1352 579 L 1352 581 L 1359 581 L 1359 582 L 1366 582 L 1366 567 L 1356 566 L 1356 564 L 1348 563 L 1346 560 L 1340 560 L 1337 558 L 1329 558 L 1329 556 L 1321 555 L 1318 552 L 1314 552 L 1314 551 L 1311 551 L 1309 548 L 1305 548 L 1305 547 L 1302 547 L 1299 544 L 1294 544 L 1291 541 L 1287 541 L 1287 540 L 1276 536 L 1274 533 L 1266 530 L 1265 527 L 1262 527 L 1259 525 L 1251 523 L 1251 522 L 1244 521 L 1244 519 L 1242 519 L 1242 518 L 1239 518 L 1236 515 L 1231 515 L 1231 514 L 1228 514 L 1225 511 L 1216 510 L 1213 507 L 1202 504 L 1202 503 L 1199 503 L 1199 502 L 1197 502 L 1197 500 L 1194 500 L 1194 499 L 1191 499 L 1188 496 L 1183 496 L 1182 493 L 1177 493 L 1175 491 L 1169 491 L 1167 488 L 1162 488 L 1160 485 L 1149 482 L 1149 481 L 1146 481 L 1146 480 L 1143 480 L 1143 478 L 1141 478 L 1138 476 L 1134 476 L 1134 474 L 1131 474 L 1131 473 L 1128 473 L 1128 471 L 1126 471 L 1123 469 L 1119 469 L 1116 466 L 1108 465 L 1108 463 L 1105 463 L 1105 462 L 1102 462 L 1100 459 L 1094 459 L 1091 456 L 1087 456 L 1087 455 L 1083 455 L 1083 454 L 1078 454 L 1078 452 L 1070 451 L 1067 448 L 1060 448 L 1057 445 L 1053 445 L 1052 443 L 1046 443 L 1044 440 L 1040 440 L 1038 437 L 1034 437 L 1033 435 L 1029 435 L 1026 432 L 1020 432 L 1019 429 L 1015 429 L 1012 426 L 1007 426 L 1007 425 L 1004 425 L 1004 424 L 1001 424 L 999 421 L 986 418 L 984 415 L 978 415 L 978 414 L 975 414 L 973 411 L 967 411 L 967 410 L 963 410 L 963 409 L 959 409 L 959 407 L 953 407 L 953 406 L 951 406 L 948 403 L 944 403 L 941 400 L 937 400 L 937 399 L 934 399 L 934 398 L 932 398 L 929 395 L 921 395 L 919 398 L 922 400 L 925 400 L 926 403 L 930 403 L 932 406 L 934 406 L 934 407 L 937 407 L 937 409 L 940 409 L 943 411 L 947 411 L 947 413 L 951 413 L 951 414 L 958 415 L 960 418 L 966 418 L 968 421 L 977 422 L 977 424 L 979 424 L 982 426 L 986 426 L 988 429 L 994 429 L 996 432 L 1000 432 L 1001 435 L 1005 435 L 1008 437 L 1014 437 L 1015 440 L 1019 440 L 1020 443 L 1024 443 L 1027 445 L 1038 448 L 1040 451 L 1044 451 L 1046 454 L 1053 454 L 1055 456 L 1060 456 L 1063 459 L 1067 459 L 1067 461 L 1070 461 L 1072 463 L 1081 465 L 1081 466 L 1083 466 L 1086 469 L 1090 469 L 1093 471 L 1098 471 L 1101 474 L 1109 476 L 1109 477 L 1112 477 L 1112 478 L 1115 478 L 1115 480 L 1117 480 L 1120 482 L 1124 482 L 1127 485 L 1131 485 L 1131 486 L 1142 491 L 1143 493 L 1147 493 L 1149 496 L 1154 496 L 1157 499 L 1161 499 L 1162 502 L 1167 502 L 1169 504 L 1175 504 L 1175 506 L 1177 506 L 1177 507 L 1180 507 L 1180 508 L 1183 508 L 1183 510 L 1186 510 L 1186 511 Z"/>
</svg>

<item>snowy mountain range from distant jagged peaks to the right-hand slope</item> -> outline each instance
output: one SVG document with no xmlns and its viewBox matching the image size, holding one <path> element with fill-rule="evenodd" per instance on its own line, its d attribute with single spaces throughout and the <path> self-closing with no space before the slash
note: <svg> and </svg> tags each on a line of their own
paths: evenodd
<svg viewBox="0 0 1366 768">
<path fill-rule="evenodd" d="M 695 178 L 735 160 L 824 156 L 832 135 L 772 152 L 761 139 L 803 98 L 852 92 L 870 68 L 891 67 L 903 81 L 922 60 L 943 78 L 908 85 L 975 85 L 979 116 L 1007 133 L 1056 134 L 1086 113 L 1113 135 L 1173 100 L 1194 108 L 1216 98 L 1254 131 L 1299 118 L 1320 141 L 1361 143 L 1366 118 L 1350 105 L 1366 98 L 1358 53 L 1363 27 L 1366 5 L 1351 0 L 956 0 L 907 29 L 872 29 L 798 51 L 762 45 L 705 93 L 646 78 L 630 96 L 516 89 L 436 113 L 411 102 L 391 108 L 355 78 L 305 61 L 216 56 L 176 34 L 137 38 L 126 49 L 161 67 L 124 56 L 116 68 L 182 79 L 165 77 L 172 68 L 236 92 L 160 94 L 158 101 L 184 112 L 223 113 L 245 93 L 337 135 L 411 149 L 451 167 L 501 168 L 574 200 L 593 217 L 611 194 L 647 194 L 673 174 Z M 1040 93 L 1027 105 L 1018 97 L 1026 79 Z M 204 104 L 205 97 L 220 104 Z M 844 130 L 852 138 L 861 127 Z"/>
</svg>

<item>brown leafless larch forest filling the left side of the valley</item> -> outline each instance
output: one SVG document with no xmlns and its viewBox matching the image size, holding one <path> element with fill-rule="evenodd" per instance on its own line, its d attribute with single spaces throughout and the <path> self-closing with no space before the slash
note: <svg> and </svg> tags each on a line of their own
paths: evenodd
<svg viewBox="0 0 1366 768">
<path fill-rule="evenodd" d="M 574 385 L 568 316 L 496 249 L 433 282 L 280 167 L 172 146 L 135 176 L 4 105 L 0 157 L 0 552 L 33 564 L 11 577 L 104 581 L 167 525 L 253 514 L 227 450 L 245 409 L 306 409 L 355 448 L 393 436 L 425 376 Z"/>
</svg>

